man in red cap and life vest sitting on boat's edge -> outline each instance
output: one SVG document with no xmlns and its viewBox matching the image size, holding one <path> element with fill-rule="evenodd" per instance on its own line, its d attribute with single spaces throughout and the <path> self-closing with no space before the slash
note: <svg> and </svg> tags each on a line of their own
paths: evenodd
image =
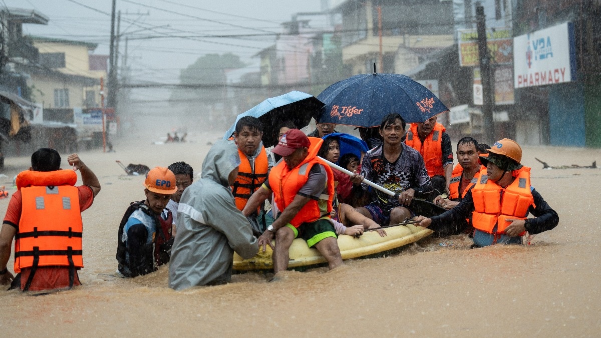
<svg viewBox="0 0 601 338">
<path fill-rule="evenodd" d="M 323 140 L 307 137 L 298 129 L 290 129 L 279 139 L 273 153 L 284 161 L 273 167 L 269 179 L 248 200 L 242 210 L 245 216 L 257 209 L 266 198 L 274 195 L 282 213 L 259 238 L 259 245 L 273 248 L 273 271 L 288 268 L 288 248 L 294 238 L 307 241 L 328 260 L 330 269 L 342 264 L 337 235 L 329 222 L 334 198 L 332 170 L 317 152 Z M 275 247 L 271 241 L 275 236 Z"/>
</svg>

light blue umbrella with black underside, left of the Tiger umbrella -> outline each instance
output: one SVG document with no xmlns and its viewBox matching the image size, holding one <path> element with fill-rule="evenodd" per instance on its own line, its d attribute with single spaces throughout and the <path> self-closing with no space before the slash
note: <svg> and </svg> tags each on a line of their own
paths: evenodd
<svg viewBox="0 0 601 338">
<path fill-rule="evenodd" d="M 257 117 L 263 123 L 263 146 L 271 147 L 278 143 L 279 130 L 276 129 L 280 123 L 292 121 L 296 128 L 304 128 L 309 125 L 311 117 L 317 119 L 322 106 L 323 102 L 302 91 L 293 90 L 284 95 L 270 97 L 239 114 L 234 125 L 225 132 L 224 140 L 234 134 L 236 123 L 240 118 L 252 116 Z"/>
</svg>

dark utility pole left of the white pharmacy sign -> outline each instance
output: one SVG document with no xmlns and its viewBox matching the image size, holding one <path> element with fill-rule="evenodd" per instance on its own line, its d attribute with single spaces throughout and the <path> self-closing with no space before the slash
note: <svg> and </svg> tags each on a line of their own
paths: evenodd
<svg viewBox="0 0 601 338">
<path fill-rule="evenodd" d="M 495 140 L 495 126 L 492 118 L 492 110 L 495 105 L 495 93 L 492 81 L 492 69 L 490 67 L 490 53 L 486 41 L 486 16 L 484 7 L 476 7 L 476 22 L 478 29 L 478 55 L 480 56 L 480 76 L 482 78 L 482 94 L 484 96 L 482 105 L 482 136 L 483 142 L 492 144 Z"/>
</svg>

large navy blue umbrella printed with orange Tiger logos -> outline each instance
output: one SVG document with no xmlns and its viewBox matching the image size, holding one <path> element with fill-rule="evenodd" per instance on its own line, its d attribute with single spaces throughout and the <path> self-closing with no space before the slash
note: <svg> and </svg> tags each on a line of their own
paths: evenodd
<svg viewBox="0 0 601 338">
<path fill-rule="evenodd" d="M 317 99 L 325 103 L 320 123 L 367 128 L 379 126 L 391 112 L 414 123 L 448 111 L 432 91 L 400 74 L 355 75 L 326 88 Z"/>
</svg>

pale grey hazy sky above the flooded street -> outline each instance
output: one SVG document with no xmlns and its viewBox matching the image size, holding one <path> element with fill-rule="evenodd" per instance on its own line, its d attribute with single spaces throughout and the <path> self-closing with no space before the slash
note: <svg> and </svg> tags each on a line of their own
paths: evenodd
<svg viewBox="0 0 601 338">
<path fill-rule="evenodd" d="M 297 12 L 320 11 L 320 2 L 117 0 L 121 34 L 130 38 L 132 82 L 175 82 L 179 69 L 207 53 L 234 52 L 249 62 L 272 45 L 272 33 L 281 32 L 281 22 Z M 49 18 L 48 25 L 23 25 L 24 34 L 95 42 L 95 54 L 109 53 L 111 0 L 0 0 L 0 5 L 34 9 Z M 176 37 L 182 35 L 188 38 Z M 121 56 L 124 52 L 123 38 Z"/>
</svg>

